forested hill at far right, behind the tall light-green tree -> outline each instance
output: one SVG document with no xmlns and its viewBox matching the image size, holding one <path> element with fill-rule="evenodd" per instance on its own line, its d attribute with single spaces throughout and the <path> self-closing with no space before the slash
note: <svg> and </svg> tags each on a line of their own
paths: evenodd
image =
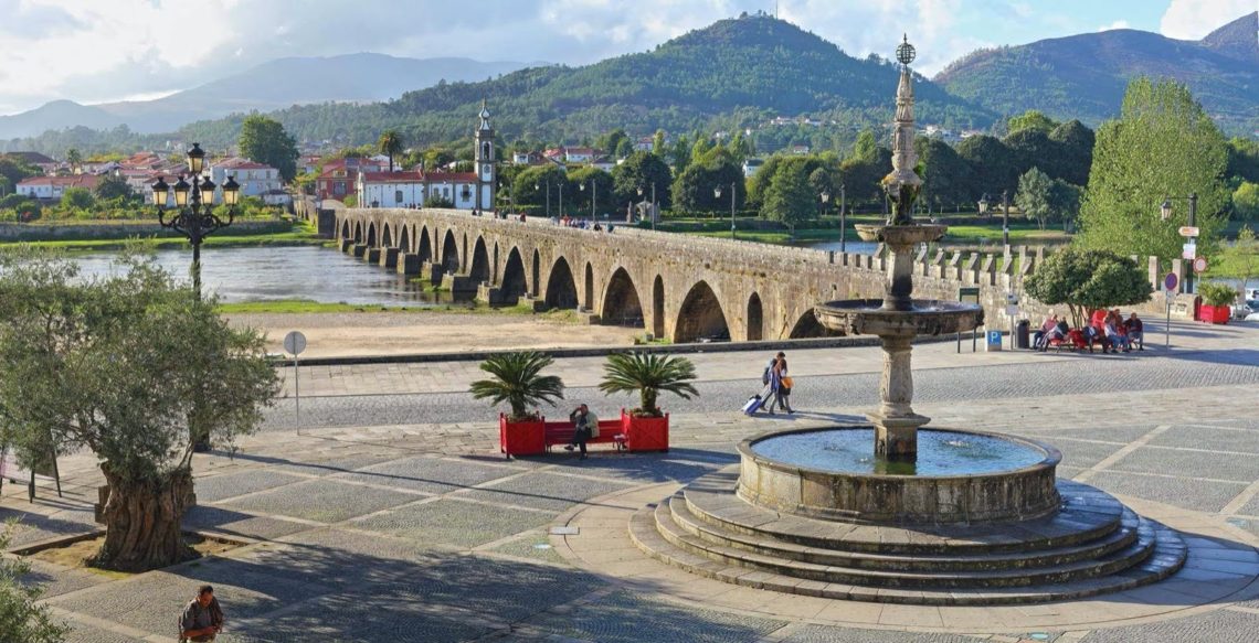
<svg viewBox="0 0 1259 643">
<path fill-rule="evenodd" d="M 974 52 L 935 82 L 1002 115 L 1040 109 L 1092 125 L 1119 112 L 1128 81 L 1170 77 L 1188 84 L 1231 133 L 1259 128 L 1259 13 L 1199 42 L 1117 29 Z"/>
</svg>

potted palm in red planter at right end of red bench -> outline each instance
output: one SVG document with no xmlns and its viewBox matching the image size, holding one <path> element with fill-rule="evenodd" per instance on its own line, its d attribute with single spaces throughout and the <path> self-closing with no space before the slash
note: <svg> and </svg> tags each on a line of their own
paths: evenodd
<svg viewBox="0 0 1259 643">
<path fill-rule="evenodd" d="M 661 413 L 656 399 L 661 391 L 684 400 L 699 395 L 691 380 L 695 365 L 685 357 L 623 352 L 609 355 L 603 365 L 599 390 L 604 395 L 637 393 L 638 408 L 621 409 L 621 424 L 630 450 L 669 450 L 669 414 Z"/>
</svg>

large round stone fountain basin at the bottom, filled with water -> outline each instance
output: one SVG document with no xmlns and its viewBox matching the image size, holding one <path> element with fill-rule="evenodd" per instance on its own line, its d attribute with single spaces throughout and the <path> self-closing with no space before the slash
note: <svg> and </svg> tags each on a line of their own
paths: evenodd
<svg viewBox="0 0 1259 643">
<path fill-rule="evenodd" d="M 920 429 L 919 439 L 932 444 L 919 452 L 914 468 L 875 459 L 872 430 L 801 429 L 744 440 L 738 495 L 786 513 L 884 525 L 1030 520 L 1060 506 L 1055 473 L 1061 453 L 1047 444 Z"/>
</svg>

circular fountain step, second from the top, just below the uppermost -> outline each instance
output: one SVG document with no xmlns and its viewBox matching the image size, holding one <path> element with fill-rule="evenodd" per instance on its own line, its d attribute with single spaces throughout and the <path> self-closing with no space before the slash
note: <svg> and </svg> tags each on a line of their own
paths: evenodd
<svg viewBox="0 0 1259 643">
<path fill-rule="evenodd" d="M 811 547 L 765 536 L 752 536 L 708 523 L 691 513 L 681 493 L 669 498 L 674 523 L 691 536 L 715 545 L 764 555 L 840 568 L 884 571 L 982 571 L 1064 565 L 1098 559 L 1127 547 L 1137 540 L 1137 515 L 1124 511 L 1121 527 L 1099 539 L 1058 549 L 949 554 L 875 554 L 869 551 Z"/>
</svg>

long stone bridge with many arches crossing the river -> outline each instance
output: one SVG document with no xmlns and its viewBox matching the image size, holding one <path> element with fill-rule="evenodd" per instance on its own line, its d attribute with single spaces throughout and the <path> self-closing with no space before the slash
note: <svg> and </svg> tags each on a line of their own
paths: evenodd
<svg viewBox="0 0 1259 643">
<path fill-rule="evenodd" d="M 881 255 L 619 226 L 593 232 L 463 210 L 345 209 L 335 216 L 341 250 L 384 269 L 476 292 L 492 305 L 575 308 L 592 322 L 640 327 L 674 342 L 825 335 L 813 306 L 883 297 L 886 269 Z M 1040 258 L 1026 248 L 1012 257 L 1021 260 L 924 252 L 915 293 L 957 299 L 959 287 L 978 286 L 988 320 L 998 320 L 1006 293 Z"/>
</svg>

